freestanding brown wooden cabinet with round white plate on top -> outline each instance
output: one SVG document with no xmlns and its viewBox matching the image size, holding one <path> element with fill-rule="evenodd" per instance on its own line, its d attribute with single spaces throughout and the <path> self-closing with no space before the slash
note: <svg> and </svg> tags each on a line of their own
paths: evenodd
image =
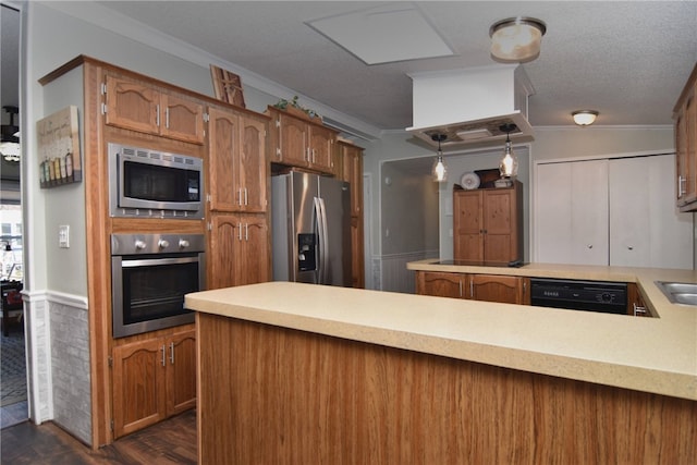
<svg viewBox="0 0 697 465">
<path fill-rule="evenodd" d="M 453 191 L 453 248 L 457 260 L 522 260 L 523 185 Z"/>
</svg>

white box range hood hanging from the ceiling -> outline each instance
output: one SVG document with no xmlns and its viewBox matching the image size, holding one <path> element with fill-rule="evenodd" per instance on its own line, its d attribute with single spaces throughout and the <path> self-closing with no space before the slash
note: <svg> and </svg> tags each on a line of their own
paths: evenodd
<svg viewBox="0 0 697 465">
<path fill-rule="evenodd" d="M 533 137 L 527 99 L 533 86 L 518 64 L 409 74 L 414 84 L 413 126 L 406 131 L 444 147 L 504 139 L 503 124 L 515 124 L 511 138 Z"/>
</svg>

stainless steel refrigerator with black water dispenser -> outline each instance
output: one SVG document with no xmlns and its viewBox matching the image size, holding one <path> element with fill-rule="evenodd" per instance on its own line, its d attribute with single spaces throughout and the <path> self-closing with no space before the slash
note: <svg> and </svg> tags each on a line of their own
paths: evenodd
<svg viewBox="0 0 697 465">
<path fill-rule="evenodd" d="M 352 286 L 350 188 L 296 171 L 271 179 L 274 281 Z"/>
</svg>

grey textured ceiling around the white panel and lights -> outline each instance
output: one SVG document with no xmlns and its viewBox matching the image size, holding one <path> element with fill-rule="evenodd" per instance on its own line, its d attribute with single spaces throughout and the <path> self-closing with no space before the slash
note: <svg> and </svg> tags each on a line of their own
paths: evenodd
<svg viewBox="0 0 697 465">
<path fill-rule="evenodd" d="M 671 124 L 697 61 L 697 2 L 162 2 L 101 4 L 380 129 L 412 125 L 407 73 L 490 65 L 489 26 L 527 15 L 547 23 L 539 59 L 524 64 L 533 125 Z M 309 27 L 379 7 L 418 8 L 453 57 L 367 65 Z"/>
</svg>

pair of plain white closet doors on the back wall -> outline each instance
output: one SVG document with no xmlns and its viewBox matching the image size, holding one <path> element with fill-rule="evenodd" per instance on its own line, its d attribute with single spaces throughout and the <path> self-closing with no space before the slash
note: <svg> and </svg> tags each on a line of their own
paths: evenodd
<svg viewBox="0 0 697 465">
<path fill-rule="evenodd" d="M 675 208 L 674 155 L 537 166 L 535 260 L 693 267 L 693 219 Z"/>
</svg>

